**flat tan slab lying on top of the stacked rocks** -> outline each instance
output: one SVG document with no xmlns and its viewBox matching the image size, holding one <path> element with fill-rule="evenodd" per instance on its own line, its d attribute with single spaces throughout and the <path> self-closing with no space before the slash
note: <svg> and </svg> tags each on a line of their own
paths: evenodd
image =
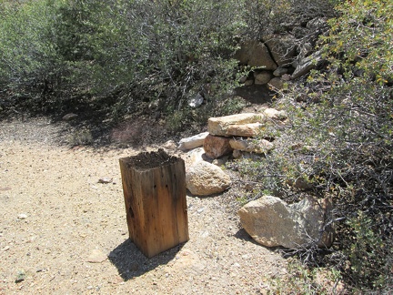
<svg viewBox="0 0 393 295">
<path fill-rule="evenodd" d="M 237 134 L 232 134 L 231 131 L 228 131 L 228 129 L 235 130 L 235 133 L 238 133 L 236 130 L 239 126 L 259 124 L 261 119 L 261 115 L 254 113 L 244 113 L 226 117 L 210 117 L 207 121 L 207 131 L 214 136 L 237 136 Z M 254 127 L 257 127 L 257 125 Z"/>
</svg>

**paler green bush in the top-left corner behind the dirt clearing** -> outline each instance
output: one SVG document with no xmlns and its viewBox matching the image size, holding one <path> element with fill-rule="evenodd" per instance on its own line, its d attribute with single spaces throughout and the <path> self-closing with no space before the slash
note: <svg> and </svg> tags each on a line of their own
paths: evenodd
<svg viewBox="0 0 393 295">
<path fill-rule="evenodd" d="M 0 88 L 2 97 L 45 96 L 55 69 L 55 50 L 47 41 L 53 10 L 45 1 L 0 4 Z M 4 98 L 4 99 L 5 99 Z"/>
</svg>

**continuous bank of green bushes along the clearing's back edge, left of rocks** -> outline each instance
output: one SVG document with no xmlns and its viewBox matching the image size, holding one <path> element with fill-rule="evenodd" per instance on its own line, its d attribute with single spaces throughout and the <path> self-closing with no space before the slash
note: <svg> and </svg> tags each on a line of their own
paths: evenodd
<svg viewBox="0 0 393 295">
<path fill-rule="evenodd" d="M 237 62 L 231 56 L 245 27 L 237 1 L 2 5 L 0 82 L 14 89 L 8 97 L 25 93 L 49 109 L 148 110 L 192 121 L 220 113 L 234 86 Z M 207 107 L 189 117 L 186 102 L 197 94 Z"/>
</svg>

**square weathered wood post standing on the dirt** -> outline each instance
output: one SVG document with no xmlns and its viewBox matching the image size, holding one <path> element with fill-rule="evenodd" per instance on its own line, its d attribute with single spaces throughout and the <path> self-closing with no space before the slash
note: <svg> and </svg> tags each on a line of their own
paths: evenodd
<svg viewBox="0 0 393 295">
<path fill-rule="evenodd" d="M 129 238 L 147 258 L 186 242 L 186 169 L 163 149 L 120 158 Z"/>
</svg>

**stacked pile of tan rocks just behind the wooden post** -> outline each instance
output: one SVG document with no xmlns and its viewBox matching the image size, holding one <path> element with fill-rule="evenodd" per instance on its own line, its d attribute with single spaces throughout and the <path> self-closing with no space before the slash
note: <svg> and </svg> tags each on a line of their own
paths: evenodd
<svg viewBox="0 0 393 295">
<path fill-rule="evenodd" d="M 207 132 L 183 138 L 178 145 L 178 149 L 188 151 L 184 156 L 186 188 L 196 196 L 208 196 L 227 189 L 230 178 L 217 166 L 224 164 L 226 157 L 267 153 L 274 148 L 273 143 L 255 137 L 261 135 L 262 127 L 267 124 L 283 124 L 286 119 L 285 112 L 275 108 L 209 118 Z"/>
</svg>

